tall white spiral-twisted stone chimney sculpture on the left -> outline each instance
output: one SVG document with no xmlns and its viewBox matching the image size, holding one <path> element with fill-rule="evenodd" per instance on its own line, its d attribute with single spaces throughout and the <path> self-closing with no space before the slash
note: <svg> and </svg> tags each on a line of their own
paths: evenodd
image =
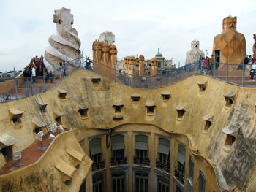
<svg viewBox="0 0 256 192">
<path fill-rule="evenodd" d="M 78 61 L 72 61 L 80 57 L 80 39 L 78 32 L 72 28 L 74 22 L 70 9 L 62 7 L 55 10 L 53 22 L 56 23 L 57 33 L 49 37 L 50 46 L 45 50 L 45 66 L 49 70 L 59 69 L 59 63 L 69 62 L 69 70 L 79 66 Z"/>
</svg>

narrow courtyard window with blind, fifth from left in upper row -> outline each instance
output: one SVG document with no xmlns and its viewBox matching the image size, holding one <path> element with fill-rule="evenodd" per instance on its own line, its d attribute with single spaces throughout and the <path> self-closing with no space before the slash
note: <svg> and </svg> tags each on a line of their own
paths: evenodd
<svg viewBox="0 0 256 192">
<path fill-rule="evenodd" d="M 185 174 L 185 157 L 186 149 L 183 145 L 178 145 L 178 155 L 177 155 L 177 165 L 175 167 L 176 178 L 184 184 L 184 174 Z"/>
</svg>

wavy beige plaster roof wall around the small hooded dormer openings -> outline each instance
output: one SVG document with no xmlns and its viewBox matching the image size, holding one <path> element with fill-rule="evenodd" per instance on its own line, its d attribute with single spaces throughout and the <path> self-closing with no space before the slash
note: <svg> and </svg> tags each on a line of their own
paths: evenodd
<svg viewBox="0 0 256 192">
<path fill-rule="evenodd" d="M 53 110 L 58 110 L 63 113 L 64 127 L 68 128 L 105 129 L 127 123 L 157 126 L 167 133 L 186 136 L 190 150 L 195 155 L 201 155 L 211 165 L 218 167 L 220 170 L 218 178 L 221 178 L 218 183 L 226 183 L 229 191 L 233 188 L 236 191 L 250 192 L 255 189 L 255 89 L 240 88 L 211 77 L 195 76 L 170 87 L 141 90 L 120 85 L 118 82 L 103 77 L 100 77 L 99 85 L 93 85 L 91 78 L 94 76 L 93 72 L 78 71 L 62 80 L 58 88 L 67 91 L 67 99 L 64 101 L 58 97 L 58 88 L 41 94 L 42 99 L 48 103 L 47 110 L 53 122 Z M 206 82 L 206 91 L 199 91 L 199 82 Z M 163 101 L 161 93 L 167 91 L 170 92 L 170 101 Z M 139 104 L 132 104 L 131 96 L 135 93 L 140 95 Z M 230 93 L 236 94 L 233 98 L 233 105 L 227 107 L 223 95 Z M 113 120 L 115 101 L 122 101 L 124 104 L 121 112 L 123 119 L 119 121 Z M 154 101 L 156 105 L 154 115 L 146 114 L 145 104 L 149 101 Z M 89 107 L 86 119 L 81 119 L 78 112 L 81 103 Z M 25 109 L 23 123 L 20 126 L 14 126 L 10 120 L 9 109 L 13 107 L 16 110 Z M 176 109 L 180 107 L 183 107 L 186 112 L 182 119 L 177 119 Z M 14 147 L 19 150 L 24 150 L 31 145 L 35 141 L 34 125 L 31 123 L 31 119 L 37 114 L 31 100 L 29 98 L 20 99 L 0 104 L 0 110 L 0 132 L 6 132 L 17 138 L 18 142 Z M 203 131 L 206 124 L 203 117 L 208 114 L 213 114 L 214 118 L 211 128 L 206 132 Z M 225 150 L 223 147 L 227 135 L 223 134 L 222 129 L 226 126 L 239 126 L 238 137 L 230 146 L 230 150 Z M 145 131 L 146 129 L 142 128 Z M 177 138 L 177 140 L 179 139 Z M 73 142 L 75 140 L 70 141 L 69 145 L 72 145 Z M 78 148 L 76 147 L 76 149 Z M 60 148 L 58 151 L 64 153 Z M 45 155 L 47 154 L 45 153 Z M 89 153 L 86 152 L 86 154 Z M 203 162 L 202 164 L 207 164 L 206 161 Z M 48 170 L 48 174 L 53 172 L 51 166 L 43 167 Z M 33 170 L 33 173 L 38 173 L 35 171 L 38 169 Z M 18 175 L 20 172 L 13 172 L 12 175 Z M 212 174 L 212 172 L 210 173 Z M 210 173 L 206 177 L 211 178 L 208 176 L 211 175 Z M 26 177 L 28 180 L 29 174 L 28 172 L 28 177 Z M 8 183 L 13 184 L 9 182 L 13 176 L 8 177 L 8 175 L 11 174 L 4 176 L 7 179 L 1 184 L 2 187 L 7 187 Z M 40 174 L 37 175 L 40 177 Z M 56 180 L 60 180 L 59 177 Z M 211 179 L 214 180 L 214 178 Z M 38 180 L 41 179 L 38 178 Z M 37 180 L 31 180 L 30 183 L 37 183 Z M 54 186 L 59 186 L 58 182 Z"/>
</svg>

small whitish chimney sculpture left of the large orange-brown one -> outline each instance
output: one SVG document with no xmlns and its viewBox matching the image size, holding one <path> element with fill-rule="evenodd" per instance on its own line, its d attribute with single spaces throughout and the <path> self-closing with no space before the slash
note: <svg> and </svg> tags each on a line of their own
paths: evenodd
<svg viewBox="0 0 256 192">
<path fill-rule="evenodd" d="M 199 49 L 199 41 L 196 39 L 191 42 L 191 50 L 186 54 L 186 65 L 195 63 L 200 60 L 200 56 L 204 57 L 204 53 Z"/>
</svg>

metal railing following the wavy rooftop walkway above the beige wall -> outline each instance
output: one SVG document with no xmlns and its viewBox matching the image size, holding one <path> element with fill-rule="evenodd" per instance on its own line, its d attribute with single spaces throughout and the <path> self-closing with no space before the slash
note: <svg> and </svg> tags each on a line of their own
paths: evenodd
<svg viewBox="0 0 256 192">
<path fill-rule="evenodd" d="M 210 63 L 206 66 L 203 61 L 197 61 L 176 69 L 170 69 L 156 76 L 138 76 L 120 72 L 109 66 L 99 64 L 91 60 L 90 67 L 86 66 L 86 58 L 77 58 L 64 63 L 65 69 L 58 69 L 52 75 L 42 77 L 0 78 L 0 103 L 22 99 L 53 88 L 60 80 L 76 70 L 91 70 L 110 80 L 119 82 L 132 88 L 156 89 L 191 77 L 193 75 L 206 75 L 234 85 L 256 88 L 256 82 L 250 80 L 250 69 L 255 69 L 256 64 L 224 64 L 219 62 Z M 74 69 L 74 65 L 76 68 Z M 69 67 L 72 64 L 72 67 Z M 252 73 L 251 73 L 252 74 Z M 35 82 L 34 82 L 35 81 Z"/>
</svg>

